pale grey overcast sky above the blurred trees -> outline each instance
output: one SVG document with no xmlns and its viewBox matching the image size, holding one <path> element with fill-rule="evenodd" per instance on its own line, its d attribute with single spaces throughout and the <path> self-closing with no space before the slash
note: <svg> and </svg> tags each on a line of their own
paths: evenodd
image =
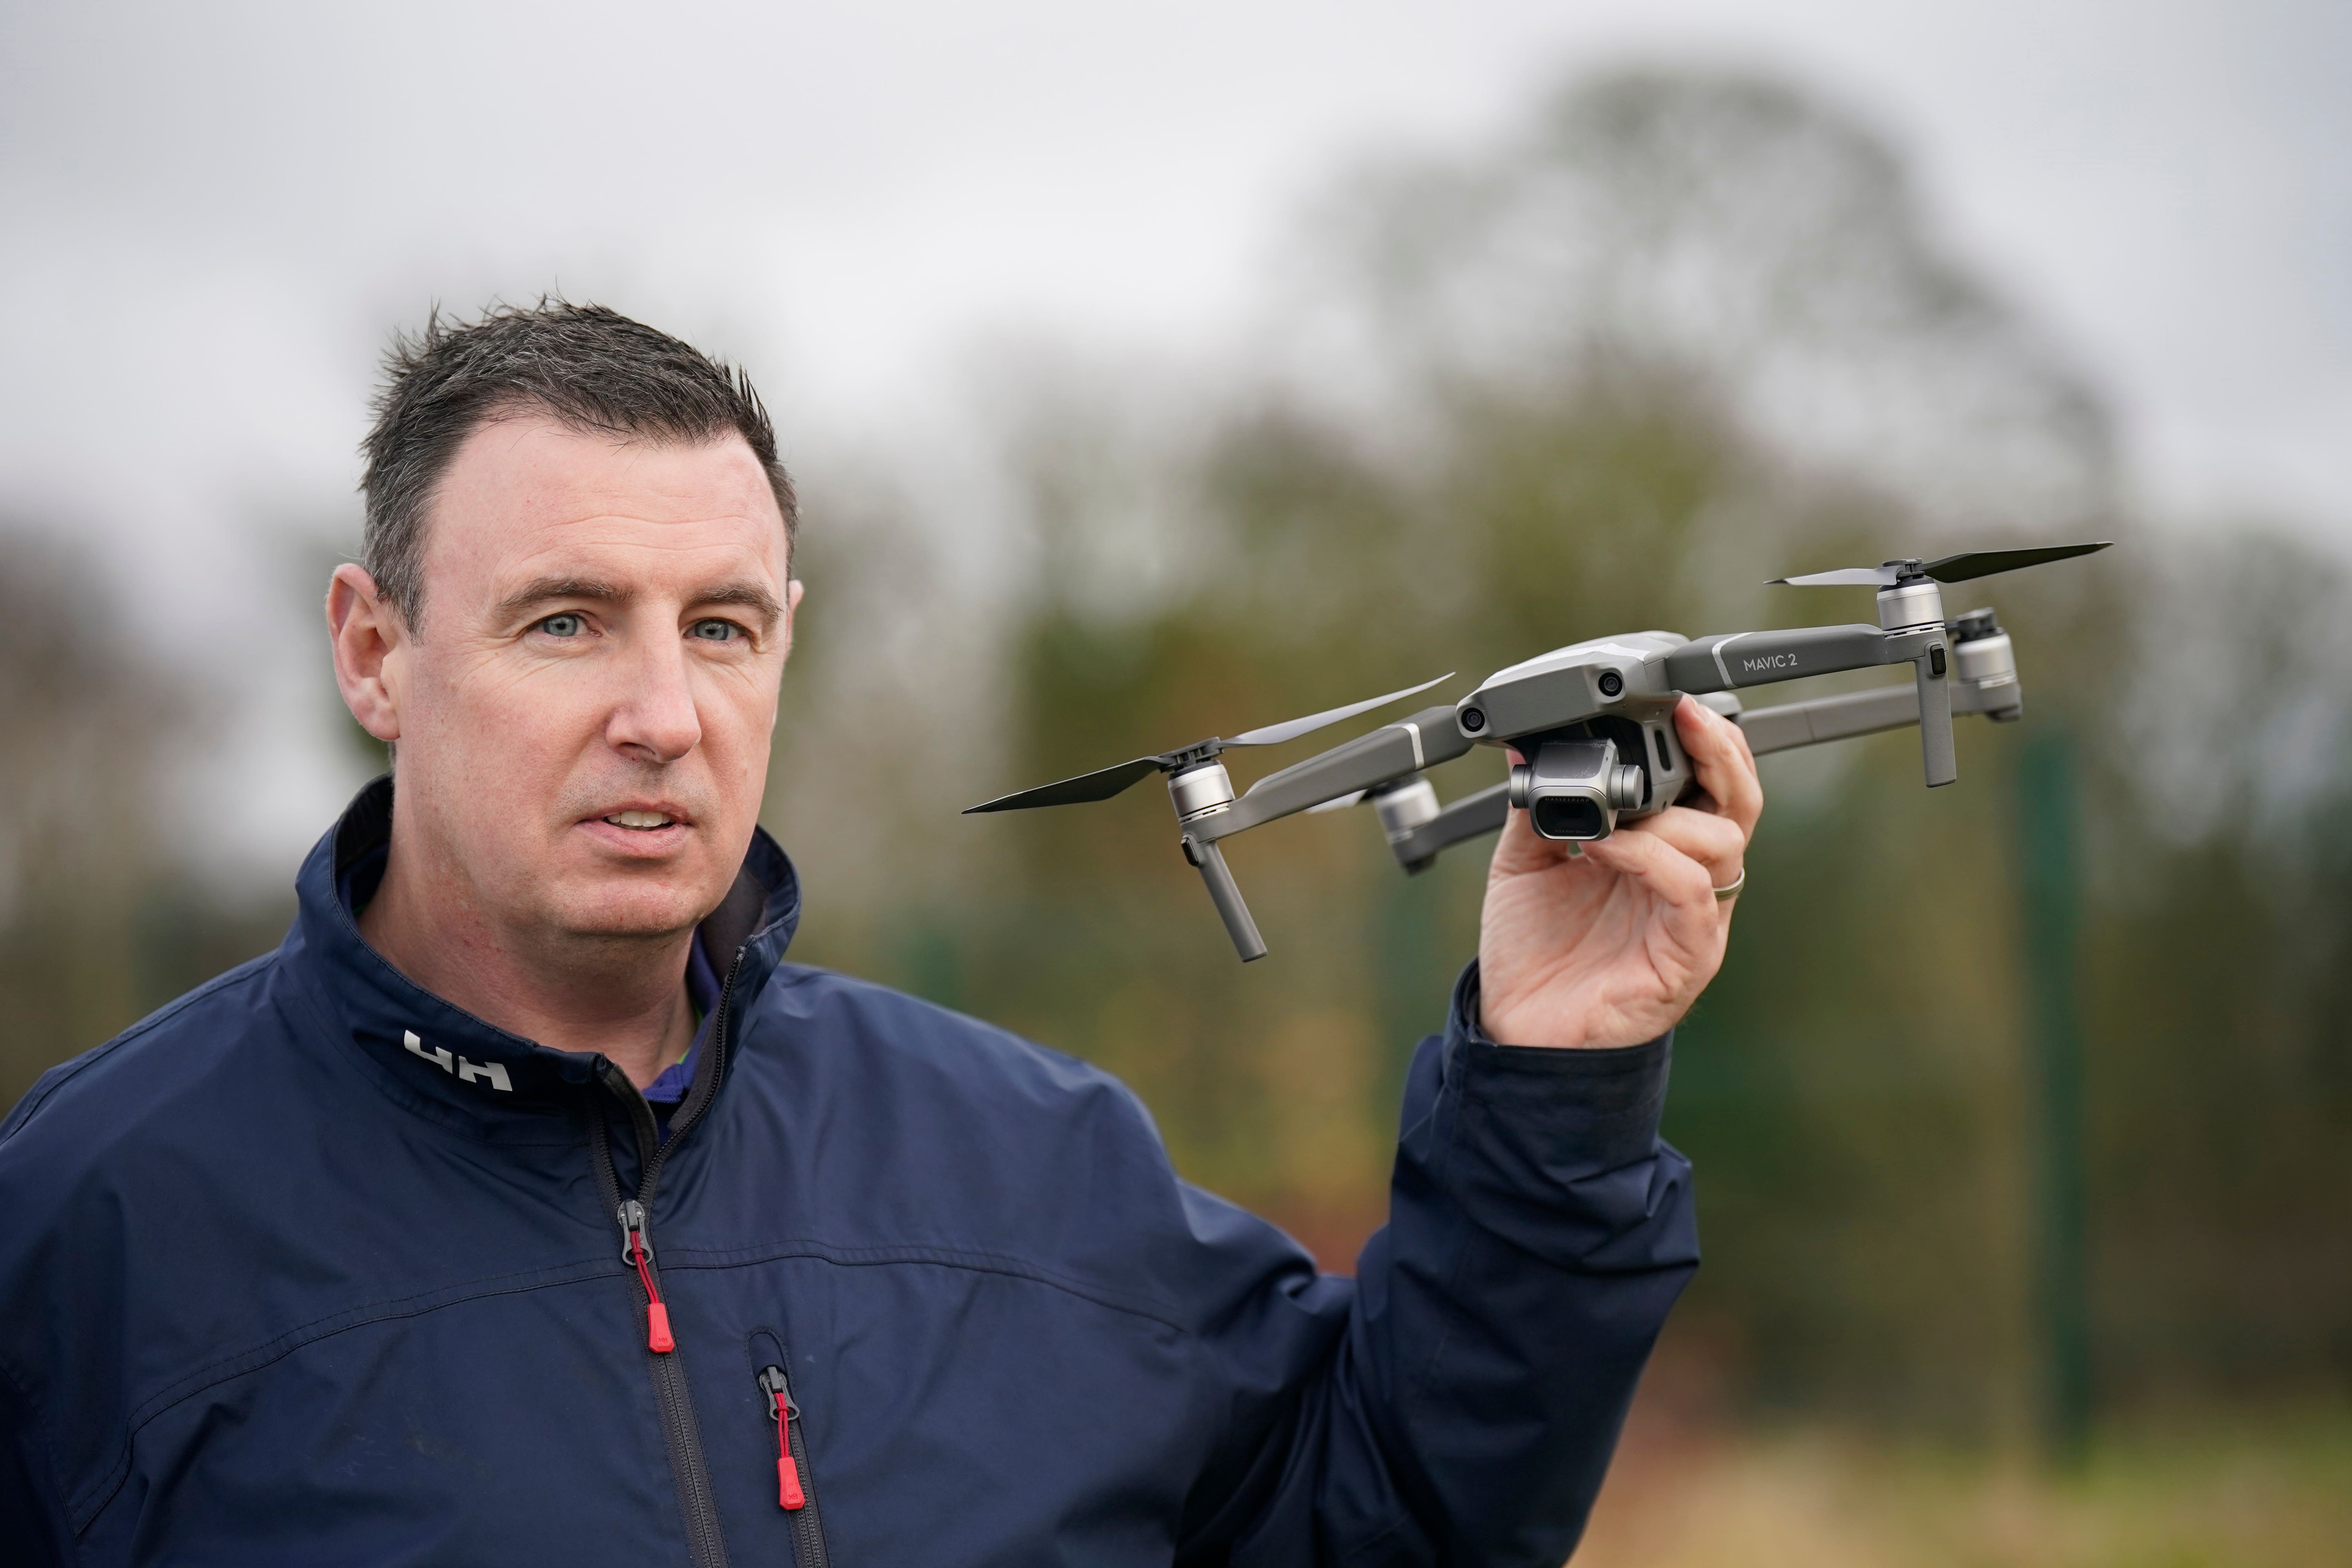
<svg viewBox="0 0 2352 1568">
<path fill-rule="evenodd" d="M 301 741 L 282 541 L 355 517 L 374 355 L 428 301 L 604 299 L 750 360 L 788 449 L 887 449 L 976 339 L 1237 331 L 1336 169 L 1628 59 L 1879 122 L 2105 378 L 2152 512 L 2352 545 L 2343 0 L 9 0 L 0 512 L 169 588 L 254 693 L 223 844 L 289 860 L 348 776 Z"/>
</svg>

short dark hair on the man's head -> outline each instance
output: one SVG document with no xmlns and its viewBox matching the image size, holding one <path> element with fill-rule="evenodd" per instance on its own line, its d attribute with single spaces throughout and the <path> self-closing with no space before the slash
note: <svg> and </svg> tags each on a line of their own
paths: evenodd
<svg viewBox="0 0 2352 1568">
<path fill-rule="evenodd" d="M 416 630 L 423 614 L 426 508 L 466 437 L 496 418 L 548 414 L 574 430 L 654 442 L 750 442 L 783 512 L 786 559 L 800 534 L 793 477 L 750 376 L 604 306 L 541 299 L 480 320 L 435 308 L 383 355 L 376 423 L 360 451 L 367 522 L 360 567 Z"/>
</svg>

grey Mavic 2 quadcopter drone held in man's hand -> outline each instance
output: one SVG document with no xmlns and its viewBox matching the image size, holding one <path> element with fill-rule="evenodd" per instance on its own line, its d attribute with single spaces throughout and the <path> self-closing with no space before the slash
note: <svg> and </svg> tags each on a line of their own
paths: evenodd
<svg viewBox="0 0 2352 1568">
<path fill-rule="evenodd" d="M 1496 670 L 1456 703 L 1383 724 L 1268 773 L 1242 795 L 1232 790 L 1223 752 L 1296 741 L 1428 691 L 1451 675 L 1287 724 L 1230 738 L 1209 736 L 1171 752 L 1002 795 L 969 806 L 967 816 L 1110 799 L 1150 773 L 1162 773 L 1176 806 L 1183 858 L 1200 870 L 1235 952 L 1249 964 L 1265 957 L 1265 940 L 1218 842 L 1301 811 L 1336 811 L 1359 802 L 1374 806 L 1388 846 L 1406 872 L 1423 872 L 1442 851 L 1498 832 L 1510 811 L 1526 811 L 1529 825 L 1545 839 L 1604 839 L 1618 823 L 1665 811 L 1698 790 L 1675 736 L 1675 708 L 1684 696 L 1738 724 L 1759 757 L 1917 724 L 1926 785 L 1955 783 L 1959 752 L 1952 717 L 2013 722 L 2025 712 L 2025 693 L 2016 649 L 1994 614 L 1973 609 L 1945 621 L 1940 585 L 2063 562 L 2110 543 L 1971 550 L 1933 562 L 1905 557 L 1879 567 L 1773 578 L 1790 588 L 1877 588 L 1879 623 L 1698 639 L 1675 632 L 1597 637 Z M 1900 663 L 1912 665 L 1910 684 L 1757 710 L 1743 710 L 1733 696 L 1745 686 Z M 1425 773 L 1477 745 L 1510 750 L 1510 778 L 1439 806 Z"/>
</svg>

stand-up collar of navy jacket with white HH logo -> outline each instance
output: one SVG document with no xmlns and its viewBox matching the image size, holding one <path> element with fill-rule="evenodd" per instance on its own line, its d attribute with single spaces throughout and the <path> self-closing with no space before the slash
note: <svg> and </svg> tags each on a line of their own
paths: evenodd
<svg viewBox="0 0 2352 1568">
<path fill-rule="evenodd" d="M 296 877 L 299 914 L 294 940 L 329 1020 L 376 1067 L 383 1088 L 414 1110 L 461 1126 L 496 1126 L 510 1117 L 546 1117 L 579 1103 L 581 1086 L 607 1067 L 602 1056 L 550 1051 L 508 1034 L 416 985 L 383 959 L 343 900 L 346 875 L 390 844 L 393 780 L 376 778 L 350 802 L 343 820 L 318 842 Z M 743 1011 L 767 987 L 800 924 L 800 877 L 790 858 L 767 835 L 753 830 L 743 870 L 696 940 L 710 966 L 727 978 L 729 1016 Z M 713 1056 L 699 1053 L 708 1070 Z M 720 1086 L 713 1084 L 713 1093 Z"/>
</svg>

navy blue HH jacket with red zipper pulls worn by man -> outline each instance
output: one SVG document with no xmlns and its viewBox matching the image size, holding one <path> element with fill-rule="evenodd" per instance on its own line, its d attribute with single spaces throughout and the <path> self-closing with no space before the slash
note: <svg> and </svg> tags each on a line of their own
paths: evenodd
<svg viewBox="0 0 2352 1568">
<path fill-rule="evenodd" d="M 339 867 L 0 1124 L 9 1563 L 1559 1563 L 1696 1262 L 1668 1044 L 1414 1058 L 1357 1276 L 1065 1056 L 783 964 L 764 835 L 656 1138 Z M 623 1255 L 640 1204 L 644 1267 Z M 654 1352 L 649 1286 L 675 1349 Z M 779 1441 L 790 1460 L 779 1465 Z M 783 1507 L 797 1493 L 802 1507 Z"/>
</svg>

